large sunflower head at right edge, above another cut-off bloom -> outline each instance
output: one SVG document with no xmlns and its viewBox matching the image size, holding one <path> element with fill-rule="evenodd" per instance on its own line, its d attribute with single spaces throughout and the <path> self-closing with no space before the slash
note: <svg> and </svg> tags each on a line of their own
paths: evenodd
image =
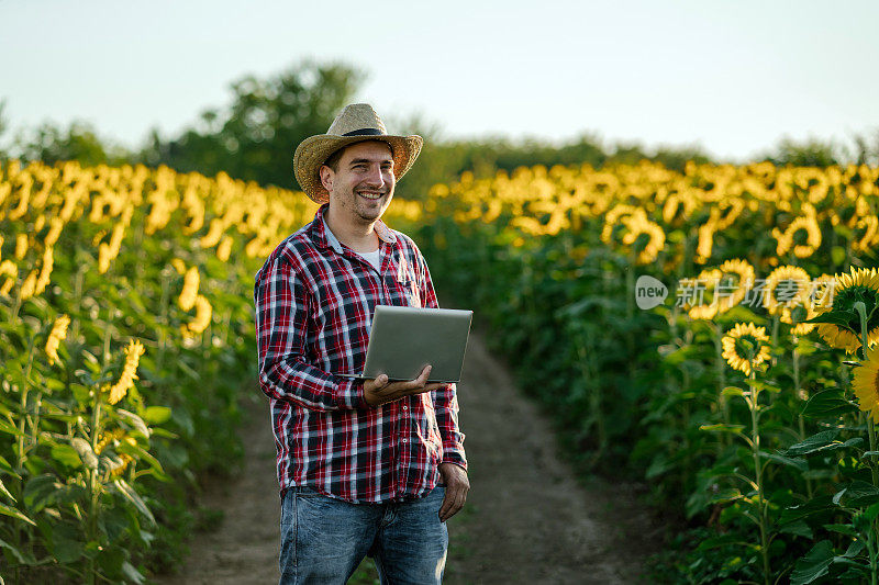
<svg viewBox="0 0 879 585">
<path fill-rule="evenodd" d="M 820 323 L 817 333 L 831 346 L 854 353 L 860 347 L 860 316 L 855 311 L 856 302 L 867 308 L 867 345 L 879 340 L 879 272 L 875 268 L 852 269 L 848 274 L 834 278 L 833 299 L 816 305 L 819 315 L 836 313 L 846 318 L 844 324 Z"/>
</svg>

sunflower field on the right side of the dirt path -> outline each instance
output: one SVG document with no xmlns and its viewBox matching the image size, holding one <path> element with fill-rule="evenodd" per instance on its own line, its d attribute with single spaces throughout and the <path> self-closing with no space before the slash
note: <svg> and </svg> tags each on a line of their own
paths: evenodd
<svg viewBox="0 0 879 585">
<path fill-rule="evenodd" d="M 653 580 L 876 584 L 878 204 L 868 166 L 538 166 L 435 185 L 420 241 L 578 464 L 689 527 Z"/>
</svg>

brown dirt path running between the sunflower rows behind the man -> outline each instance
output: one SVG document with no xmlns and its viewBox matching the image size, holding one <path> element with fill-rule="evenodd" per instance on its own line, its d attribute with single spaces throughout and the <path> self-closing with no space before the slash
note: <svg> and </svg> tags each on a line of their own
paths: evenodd
<svg viewBox="0 0 879 585">
<path fill-rule="evenodd" d="M 470 496 L 449 521 L 447 584 L 639 583 L 660 532 L 631 488 L 579 484 L 555 452 L 547 423 L 471 335 L 459 384 Z M 275 446 L 262 394 L 243 429 L 241 480 L 208 494 L 225 510 L 218 532 L 198 535 L 181 574 L 162 585 L 278 582 L 279 499 Z"/>
</svg>

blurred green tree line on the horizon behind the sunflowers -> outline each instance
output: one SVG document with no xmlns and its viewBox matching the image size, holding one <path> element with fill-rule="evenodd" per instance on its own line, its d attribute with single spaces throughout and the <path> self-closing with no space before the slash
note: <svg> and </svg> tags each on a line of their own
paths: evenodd
<svg viewBox="0 0 879 585">
<path fill-rule="evenodd" d="M 230 86 L 225 105 L 208 108 L 188 127 L 165 136 L 149 132 L 136 148 L 126 148 L 98 135 L 93 125 L 75 121 L 66 127 L 45 122 L 19 131 L 0 158 L 24 160 L 79 160 L 86 165 L 124 162 L 151 167 L 167 165 L 179 171 L 208 176 L 224 171 L 233 178 L 264 185 L 298 188 L 292 177 L 292 154 L 307 136 L 322 134 L 335 114 L 356 100 L 366 75 L 344 63 L 301 61 L 267 78 L 247 76 Z M 546 139 L 507 136 L 446 138 L 436 124 L 415 116 L 386 119 L 390 132 L 420 134 L 425 138 L 422 162 L 400 183 L 408 199 L 426 196 L 431 185 L 471 171 L 477 177 L 520 166 L 580 165 L 602 167 L 642 159 L 681 170 L 688 160 L 717 162 L 699 147 L 645 148 L 641 144 L 605 145 L 599 137 L 581 134 L 561 144 Z M 0 102 L 0 138 L 9 132 Z M 777 165 L 826 167 L 842 162 L 879 164 L 879 131 L 856 135 L 849 144 L 811 139 L 783 139 L 763 157 Z"/>
</svg>

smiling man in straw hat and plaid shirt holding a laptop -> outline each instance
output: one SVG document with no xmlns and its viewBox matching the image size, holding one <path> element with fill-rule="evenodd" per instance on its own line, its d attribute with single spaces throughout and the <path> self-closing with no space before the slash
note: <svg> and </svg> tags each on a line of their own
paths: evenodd
<svg viewBox="0 0 879 585">
<path fill-rule="evenodd" d="M 418 158 L 368 104 L 304 139 L 293 170 L 322 204 L 256 274 L 259 385 L 281 488 L 281 584 L 345 583 L 366 554 L 382 583 L 439 583 L 445 520 L 467 497 L 455 384 L 357 382 L 378 304 L 435 307 L 424 258 L 381 221 Z M 430 335 L 430 331 L 424 331 Z"/>
</svg>

